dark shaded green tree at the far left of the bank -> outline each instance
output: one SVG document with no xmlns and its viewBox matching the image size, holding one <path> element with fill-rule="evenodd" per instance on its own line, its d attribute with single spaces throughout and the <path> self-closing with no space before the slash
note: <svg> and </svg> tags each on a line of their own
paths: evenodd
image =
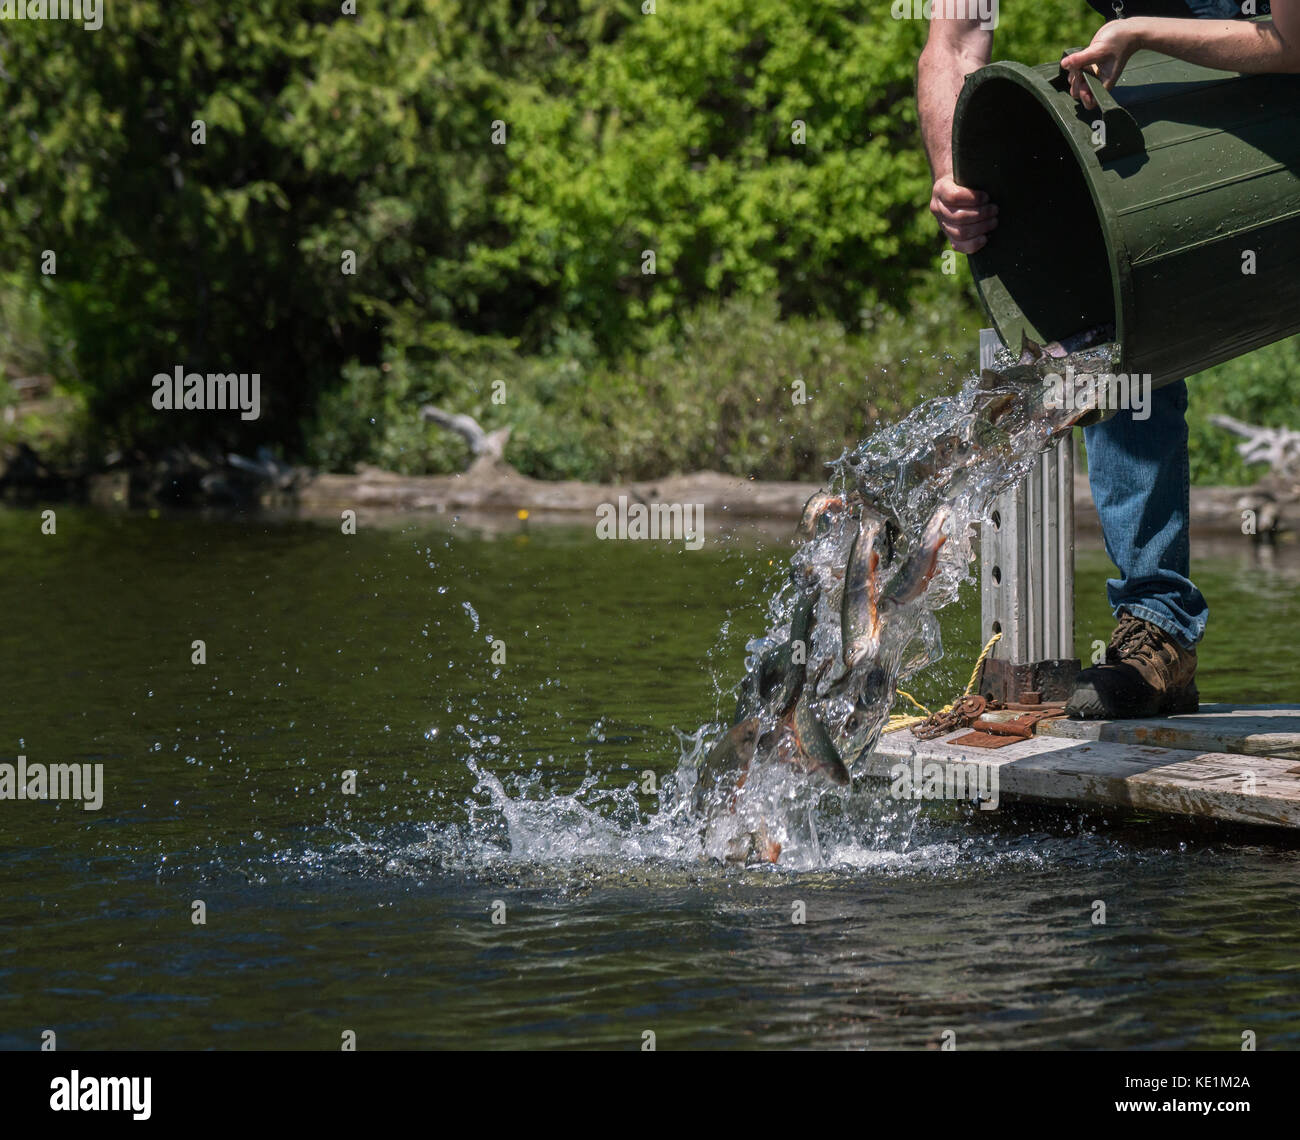
<svg viewBox="0 0 1300 1140">
<path fill-rule="evenodd" d="M 0 243 L 32 282 L 42 251 L 57 257 L 47 311 L 75 343 L 65 380 L 88 398 L 99 450 L 185 433 L 294 443 L 302 403 L 376 341 L 332 321 L 342 290 L 313 281 L 298 250 L 332 204 L 286 146 L 277 104 L 286 75 L 309 66 L 320 13 L 122 3 L 95 32 L 0 27 L 12 169 Z M 150 381 L 177 364 L 260 372 L 266 415 L 160 416 Z"/>
</svg>

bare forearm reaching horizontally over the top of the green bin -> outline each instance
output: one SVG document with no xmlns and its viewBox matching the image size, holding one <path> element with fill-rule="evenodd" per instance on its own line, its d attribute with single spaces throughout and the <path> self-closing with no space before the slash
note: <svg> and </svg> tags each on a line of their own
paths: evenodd
<svg viewBox="0 0 1300 1140">
<path fill-rule="evenodd" d="M 1273 0 L 1271 21 L 1164 19 L 1148 16 L 1113 19 L 1101 26 L 1088 47 L 1061 61 L 1070 71 L 1071 94 L 1086 107 L 1092 107 L 1092 96 L 1079 78 L 1080 71 L 1092 70 L 1109 90 L 1139 48 L 1222 71 L 1300 71 L 1300 0 Z"/>
</svg>

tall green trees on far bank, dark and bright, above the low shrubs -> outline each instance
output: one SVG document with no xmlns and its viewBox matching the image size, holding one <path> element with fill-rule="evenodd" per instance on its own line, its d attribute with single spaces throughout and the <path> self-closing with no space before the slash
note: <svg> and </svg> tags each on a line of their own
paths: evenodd
<svg viewBox="0 0 1300 1140">
<path fill-rule="evenodd" d="M 1026 5 L 1000 35 L 1046 57 L 1062 18 L 1083 21 L 1063 0 Z M 326 404 L 364 400 L 347 438 L 313 435 L 355 455 L 407 360 L 426 383 L 430 360 L 463 369 L 467 344 L 491 368 L 502 344 L 545 357 L 577 337 L 610 364 L 668 351 L 729 296 L 850 330 L 905 309 L 941 250 L 911 97 L 923 35 L 866 0 L 655 16 L 390 0 L 356 17 L 118 0 L 94 34 L 5 21 L 0 253 L 48 290 L 74 346 L 60 378 L 100 450 L 188 434 L 296 451 Z M 176 364 L 260 372 L 263 419 L 156 415 L 150 380 Z"/>
</svg>

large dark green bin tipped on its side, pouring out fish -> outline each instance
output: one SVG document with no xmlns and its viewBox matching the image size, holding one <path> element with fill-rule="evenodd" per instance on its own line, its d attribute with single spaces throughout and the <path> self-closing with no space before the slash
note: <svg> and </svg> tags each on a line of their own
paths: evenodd
<svg viewBox="0 0 1300 1140">
<path fill-rule="evenodd" d="M 1158 387 L 1300 331 L 1300 77 L 1143 51 L 1089 88 L 1093 110 L 1058 65 L 998 62 L 957 100 L 953 174 L 998 205 L 970 263 L 1004 342 L 1114 324 L 1121 370 Z"/>
</svg>

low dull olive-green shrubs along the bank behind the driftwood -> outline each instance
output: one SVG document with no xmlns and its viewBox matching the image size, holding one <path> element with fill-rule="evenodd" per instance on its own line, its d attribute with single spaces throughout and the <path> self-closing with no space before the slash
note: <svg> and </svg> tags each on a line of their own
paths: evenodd
<svg viewBox="0 0 1300 1140">
<path fill-rule="evenodd" d="M 736 298 L 690 315 L 676 343 L 612 363 L 589 339 L 569 338 L 546 356 L 498 348 L 433 367 L 352 365 L 322 408 L 316 447 L 333 468 L 377 455 L 404 473 L 458 471 L 464 446 L 410 412 L 433 402 L 489 429 L 508 424 L 507 459 L 541 477 L 710 468 L 815 481 L 876 421 L 961 382 L 975 346 L 963 316 L 935 304 L 906 317 L 883 311 L 868 333 L 849 334 L 829 317 L 781 320 L 772 298 Z M 941 344 L 970 351 L 953 359 L 935 351 Z"/>
</svg>

